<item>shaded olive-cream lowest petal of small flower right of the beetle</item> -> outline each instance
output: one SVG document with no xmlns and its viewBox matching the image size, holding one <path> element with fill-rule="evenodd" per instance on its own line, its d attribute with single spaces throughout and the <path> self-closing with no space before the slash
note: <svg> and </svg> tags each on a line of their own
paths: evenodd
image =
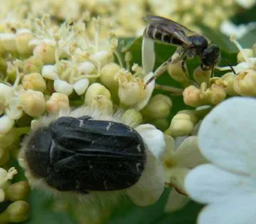
<svg viewBox="0 0 256 224">
<path fill-rule="evenodd" d="M 166 201 L 166 206 L 164 207 L 164 211 L 166 213 L 171 213 L 177 211 L 188 203 L 189 198 L 183 194 L 179 194 L 175 189 L 171 189 L 171 193 L 168 196 Z"/>
</svg>

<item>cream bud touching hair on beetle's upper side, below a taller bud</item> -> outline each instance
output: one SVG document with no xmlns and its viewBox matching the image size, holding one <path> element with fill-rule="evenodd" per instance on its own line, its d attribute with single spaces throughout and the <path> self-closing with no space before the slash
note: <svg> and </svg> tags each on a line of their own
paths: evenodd
<svg viewBox="0 0 256 224">
<path fill-rule="evenodd" d="M 104 113 L 108 114 L 113 112 L 113 103 L 107 96 L 98 95 L 93 97 L 90 107 L 95 108 L 96 111 L 104 111 Z"/>
</svg>

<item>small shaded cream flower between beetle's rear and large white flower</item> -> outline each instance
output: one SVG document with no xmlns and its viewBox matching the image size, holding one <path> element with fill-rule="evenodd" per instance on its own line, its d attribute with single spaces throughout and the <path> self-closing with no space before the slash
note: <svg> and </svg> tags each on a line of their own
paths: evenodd
<svg viewBox="0 0 256 224">
<path fill-rule="evenodd" d="M 174 141 L 174 138 L 166 135 L 165 142 L 166 150 L 164 152 L 163 165 L 166 183 L 169 186 L 174 186 L 174 189 L 169 194 L 164 211 L 172 212 L 183 208 L 188 202 L 188 197 L 184 190 L 184 178 L 189 169 L 205 163 L 206 159 L 203 158 L 198 149 L 196 136 L 182 138 L 182 142 L 180 142 L 179 138 Z"/>
</svg>

